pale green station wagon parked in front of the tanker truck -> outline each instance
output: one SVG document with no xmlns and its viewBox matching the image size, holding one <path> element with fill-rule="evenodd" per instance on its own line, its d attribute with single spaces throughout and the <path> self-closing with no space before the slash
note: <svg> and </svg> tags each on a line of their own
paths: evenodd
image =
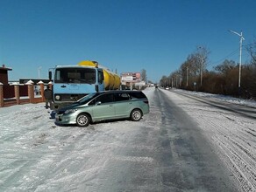
<svg viewBox="0 0 256 192">
<path fill-rule="evenodd" d="M 55 114 L 58 125 L 76 124 L 87 127 L 101 120 L 130 119 L 139 121 L 149 113 L 149 103 L 141 91 L 106 91 L 90 93 L 70 106 L 60 108 Z"/>
</svg>

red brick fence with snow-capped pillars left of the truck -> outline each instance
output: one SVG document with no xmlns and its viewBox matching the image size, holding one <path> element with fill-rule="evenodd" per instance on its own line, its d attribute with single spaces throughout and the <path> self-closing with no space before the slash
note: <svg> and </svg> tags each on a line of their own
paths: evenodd
<svg viewBox="0 0 256 192">
<path fill-rule="evenodd" d="M 51 85 L 49 83 L 49 86 Z M 37 94 L 35 93 L 35 86 L 32 81 L 27 82 L 25 85 L 3 85 L 0 83 L 0 107 L 44 102 L 45 84 L 40 81 L 38 86 L 40 88 Z"/>
</svg>

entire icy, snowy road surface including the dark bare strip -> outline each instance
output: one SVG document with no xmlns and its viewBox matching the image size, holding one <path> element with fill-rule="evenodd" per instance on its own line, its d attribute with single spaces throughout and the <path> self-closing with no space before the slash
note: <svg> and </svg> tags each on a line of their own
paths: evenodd
<svg viewBox="0 0 256 192">
<path fill-rule="evenodd" d="M 0 108 L 0 191 L 256 191 L 253 117 L 144 93 L 143 120 L 85 128 L 55 126 L 44 104 Z"/>
</svg>

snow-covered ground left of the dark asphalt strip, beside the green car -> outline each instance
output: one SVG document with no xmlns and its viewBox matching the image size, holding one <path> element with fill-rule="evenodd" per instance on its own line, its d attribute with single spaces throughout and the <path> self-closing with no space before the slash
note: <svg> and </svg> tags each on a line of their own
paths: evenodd
<svg viewBox="0 0 256 192">
<path fill-rule="evenodd" d="M 0 112 L 0 191 L 86 191 L 82 183 L 97 182 L 108 154 L 136 128 L 131 121 L 57 127 L 44 104 Z"/>
</svg>

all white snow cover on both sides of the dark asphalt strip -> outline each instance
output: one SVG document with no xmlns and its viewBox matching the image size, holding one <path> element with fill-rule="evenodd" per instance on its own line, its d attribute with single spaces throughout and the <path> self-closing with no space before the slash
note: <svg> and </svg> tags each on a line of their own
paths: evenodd
<svg viewBox="0 0 256 192">
<path fill-rule="evenodd" d="M 241 189 L 256 191 L 255 120 L 160 91 L 196 120 Z M 144 91 L 151 105 L 153 92 L 154 88 Z M 226 100 L 256 106 L 253 101 Z M 154 127 L 157 122 L 151 120 L 153 115 L 157 112 L 152 110 L 139 122 L 121 120 L 86 128 L 58 127 L 43 103 L 0 108 L 0 191 L 96 191 L 96 185 L 103 185 L 103 178 L 108 176 L 105 168 L 110 160 L 154 161 L 151 157 L 113 153 L 125 146 L 153 150 L 132 142 L 138 127 Z"/>
</svg>

